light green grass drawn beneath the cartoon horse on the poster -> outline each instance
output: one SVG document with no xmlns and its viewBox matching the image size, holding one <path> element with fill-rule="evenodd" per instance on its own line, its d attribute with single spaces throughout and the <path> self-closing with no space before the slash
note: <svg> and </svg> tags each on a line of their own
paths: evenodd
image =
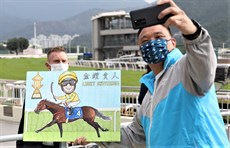
<svg viewBox="0 0 230 148">
<path fill-rule="evenodd" d="M 108 129 L 107 132 L 100 132 L 103 141 L 113 141 L 113 139 L 120 138 L 120 112 L 114 111 L 101 111 L 104 115 L 112 118 L 110 121 L 104 121 L 96 117 L 95 121 L 102 127 Z M 26 113 L 27 114 L 27 113 Z M 43 111 L 39 114 L 34 112 L 28 112 L 28 128 L 25 139 L 31 139 L 30 137 L 36 137 L 36 141 L 49 141 L 56 139 L 56 141 L 73 141 L 73 137 L 85 136 L 89 141 L 100 141 L 97 137 L 95 129 L 82 119 L 78 119 L 71 123 L 63 124 L 63 137 L 60 137 L 59 128 L 57 124 L 44 129 L 42 132 L 36 133 L 35 131 L 52 120 L 53 115 L 50 112 Z M 26 123 L 26 121 L 25 121 Z"/>
</svg>

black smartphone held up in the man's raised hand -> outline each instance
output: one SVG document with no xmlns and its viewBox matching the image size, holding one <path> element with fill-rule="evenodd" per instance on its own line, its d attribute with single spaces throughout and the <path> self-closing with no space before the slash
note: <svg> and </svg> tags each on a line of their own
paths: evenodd
<svg viewBox="0 0 230 148">
<path fill-rule="evenodd" d="M 154 5 L 154 6 L 130 11 L 130 17 L 131 17 L 133 29 L 140 29 L 143 27 L 165 23 L 165 21 L 172 15 L 171 14 L 166 15 L 162 19 L 158 19 L 158 15 L 162 10 L 168 7 L 170 7 L 170 4 L 165 3 L 162 5 Z"/>
</svg>

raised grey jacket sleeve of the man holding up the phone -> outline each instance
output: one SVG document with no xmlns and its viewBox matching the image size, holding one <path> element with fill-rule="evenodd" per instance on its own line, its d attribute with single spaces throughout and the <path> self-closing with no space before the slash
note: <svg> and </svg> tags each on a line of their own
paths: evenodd
<svg viewBox="0 0 230 148">
<path fill-rule="evenodd" d="M 203 95 L 214 83 L 217 59 L 207 30 L 201 27 L 196 39 L 185 40 L 184 85 L 193 94 Z M 191 79 L 192 83 L 188 83 Z M 187 82 L 186 82 L 187 81 Z M 193 88 L 192 88 L 193 87 Z"/>
</svg>

